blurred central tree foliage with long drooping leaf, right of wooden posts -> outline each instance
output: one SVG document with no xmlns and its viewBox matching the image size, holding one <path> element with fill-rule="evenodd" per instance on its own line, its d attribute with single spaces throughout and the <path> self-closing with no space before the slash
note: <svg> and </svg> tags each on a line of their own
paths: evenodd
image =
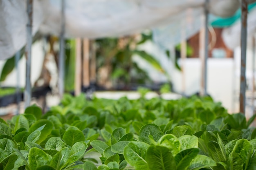
<svg viewBox="0 0 256 170">
<path fill-rule="evenodd" d="M 151 33 L 96 40 L 99 85 L 106 86 L 106 88 L 124 87 L 128 89 L 130 84 L 152 83 L 148 73 L 132 60 L 135 55 L 168 76 L 155 57 L 146 51 L 137 49 L 138 45 L 151 40 Z"/>
</svg>

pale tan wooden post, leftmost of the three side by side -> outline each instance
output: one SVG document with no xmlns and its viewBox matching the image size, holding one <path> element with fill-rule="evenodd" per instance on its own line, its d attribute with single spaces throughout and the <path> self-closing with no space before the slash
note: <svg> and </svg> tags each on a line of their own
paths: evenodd
<svg viewBox="0 0 256 170">
<path fill-rule="evenodd" d="M 81 93 L 81 68 L 82 68 L 82 60 L 81 60 L 81 39 L 76 39 L 76 75 L 75 75 L 75 95 L 80 95 Z"/>
</svg>

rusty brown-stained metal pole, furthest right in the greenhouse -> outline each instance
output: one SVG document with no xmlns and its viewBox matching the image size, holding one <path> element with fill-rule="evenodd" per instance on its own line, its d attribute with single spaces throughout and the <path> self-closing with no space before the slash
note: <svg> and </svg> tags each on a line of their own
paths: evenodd
<svg viewBox="0 0 256 170">
<path fill-rule="evenodd" d="M 240 69 L 240 113 L 245 114 L 245 91 L 246 91 L 246 47 L 247 47 L 247 12 L 248 12 L 248 2 L 247 0 L 242 0 L 241 6 L 241 69 Z"/>
</svg>

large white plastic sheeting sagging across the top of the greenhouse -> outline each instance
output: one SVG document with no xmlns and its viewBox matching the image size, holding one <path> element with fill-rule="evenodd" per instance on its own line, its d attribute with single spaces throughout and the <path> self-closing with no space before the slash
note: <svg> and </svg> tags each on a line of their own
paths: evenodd
<svg viewBox="0 0 256 170">
<path fill-rule="evenodd" d="M 254 2 L 256 0 L 250 0 Z M 174 31 L 189 28 L 177 40 L 198 31 L 193 27 L 205 0 L 66 0 L 65 37 L 103 38 L 139 33 L 174 24 Z M 34 0 L 33 34 L 59 35 L 61 0 Z M 214 15 L 234 15 L 240 0 L 210 0 Z M 0 0 L 0 59 L 14 55 L 26 44 L 26 0 Z M 192 31 L 190 31 L 190 29 Z M 189 33 L 186 33 L 189 32 Z M 175 37 L 168 37 L 175 39 Z"/>
</svg>

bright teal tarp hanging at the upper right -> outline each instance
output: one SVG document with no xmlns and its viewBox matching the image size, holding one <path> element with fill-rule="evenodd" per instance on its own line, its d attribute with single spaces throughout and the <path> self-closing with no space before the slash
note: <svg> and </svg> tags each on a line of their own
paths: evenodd
<svg viewBox="0 0 256 170">
<path fill-rule="evenodd" d="M 250 12 L 254 7 L 256 7 L 256 2 L 248 5 L 248 11 Z M 235 15 L 233 15 L 232 17 L 228 17 L 228 18 L 217 17 L 213 22 L 211 22 L 211 26 L 219 27 L 219 28 L 228 27 L 234 24 L 234 22 L 236 22 L 240 18 L 241 18 L 241 9 L 236 11 Z"/>
</svg>

